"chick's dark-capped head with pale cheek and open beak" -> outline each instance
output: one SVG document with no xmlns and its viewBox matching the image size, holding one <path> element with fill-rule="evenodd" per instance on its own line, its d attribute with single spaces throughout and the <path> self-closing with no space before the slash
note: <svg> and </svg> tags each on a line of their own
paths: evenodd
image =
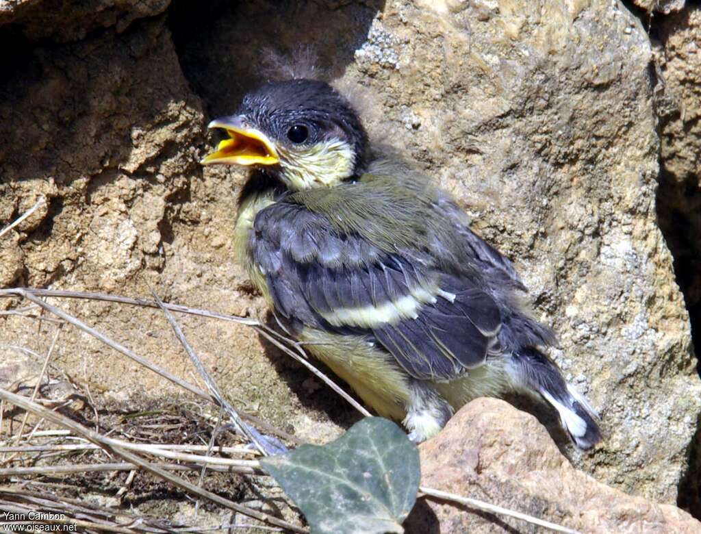
<svg viewBox="0 0 701 534">
<path fill-rule="evenodd" d="M 321 81 L 266 83 L 209 128 L 226 130 L 229 139 L 200 163 L 258 167 L 294 191 L 334 186 L 365 165 L 367 134 L 358 115 Z"/>
</svg>

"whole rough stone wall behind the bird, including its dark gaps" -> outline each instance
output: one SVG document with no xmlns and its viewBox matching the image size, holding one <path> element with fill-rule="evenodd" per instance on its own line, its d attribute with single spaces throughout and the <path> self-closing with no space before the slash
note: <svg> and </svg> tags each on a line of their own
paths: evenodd
<svg viewBox="0 0 701 534">
<path fill-rule="evenodd" d="M 0 227 L 46 199 L 0 238 L 0 287 L 265 317 L 231 252 L 244 174 L 197 161 L 207 122 L 269 75 L 264 50 L 300 46 L 517 264 L 606 435 L 581 455 L 538 414 L 543 439 L 701 516 L 701 8 L 683 0 L 0 0 Z M 192 378 L 161 313 L 52 303 Z M 182 324 L 242 409 L 316 442 L 355 418 L 250 329 Z M 52 337 L 0 317 L 0 385 Z M 130 409 L 182 395 L 71 328 L 53 368 Z"/>
</svg>

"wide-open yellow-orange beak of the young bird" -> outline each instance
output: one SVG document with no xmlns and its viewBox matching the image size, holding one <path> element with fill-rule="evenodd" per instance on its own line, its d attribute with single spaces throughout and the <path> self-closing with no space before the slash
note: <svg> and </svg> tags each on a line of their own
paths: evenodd
<svg viewBox="0 0 701 534">
<path fill-rule="evenodd" d="M 276 165 L 278 151 L 270 139 L 255 128 L 247 128 L 239 117 L 217 118 L 207 128 L 222 128 L 230 139 L 219 142 L 217 151 L 200 161 L 202 165 Z"/>
</svg>

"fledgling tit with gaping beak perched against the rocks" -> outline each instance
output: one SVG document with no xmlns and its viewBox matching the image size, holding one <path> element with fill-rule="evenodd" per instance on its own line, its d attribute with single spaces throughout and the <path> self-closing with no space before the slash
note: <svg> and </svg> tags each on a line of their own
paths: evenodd
<svg viewBox="0 0 701 534">
<path fill-rule="evenodd" d="M 379 416 L 421 443 L 476 397 L 557 411 L 582 450 L 597 412 L 547 355 L 515 267 L 428 172 L 379 148 L 325 81 L 268 81 L 208 128 L 200 161 L 250 170 L 233 251 L 275 317 Z"/>
</svg>

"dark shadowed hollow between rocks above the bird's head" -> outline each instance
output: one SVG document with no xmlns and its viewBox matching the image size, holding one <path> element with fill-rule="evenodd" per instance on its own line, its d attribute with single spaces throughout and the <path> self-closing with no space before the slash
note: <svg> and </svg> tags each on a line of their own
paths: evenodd
<svg viewBox="0 0 701 534">
<path fill-rule="evenodd" d="M 341 76 L 384 3 L 334 3 L 329 10 L 318 1 L 174 0 L 168 26 L 183 74 L 213 117 L 236 111 L 243 95 L 269 77 L 275 69 L 268 53 L 294 62 L 308 48 L 318 77 Z"/>
</svg>

